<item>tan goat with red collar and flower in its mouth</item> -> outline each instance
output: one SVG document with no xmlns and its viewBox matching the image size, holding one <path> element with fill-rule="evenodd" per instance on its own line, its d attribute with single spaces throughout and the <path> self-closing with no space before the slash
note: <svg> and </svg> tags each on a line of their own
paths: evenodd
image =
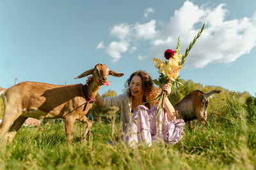
<svg viewBox="0 0 256 170">
<path fill-rule="evenodd" d="M 76 120 L 87 125 L 83 134 L 83 141 L 85 141 L 86 134 L 92 127 L 92 122 L 86 118 L 86 113 L 92 108 L 92 101 L 101 85 L 108 81 L 108 75 L 123 76 L 122 73 L 109 70 L 105 64 L 97 64 L 94 69 L 85 71 L 76 78 L 83 78 L 89 74 L 93 76 L 87 86 L 82 84 L 52 85 L 24 81 L 10 89 L 0 88 L 0 94 L 4 101 L 0 137 L 4 136 L 5 140 L 12 141 L 28 117 L 64 118 L 68 143 L 72 142 L 72 129 Z M 85 110 L 83 111 L 83 109 Z"/>
</svg>

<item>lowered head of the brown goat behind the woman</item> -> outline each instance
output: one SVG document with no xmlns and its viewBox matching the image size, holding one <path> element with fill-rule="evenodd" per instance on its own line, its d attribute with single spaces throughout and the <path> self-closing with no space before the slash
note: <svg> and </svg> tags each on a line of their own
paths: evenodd
<svg viewBox="0 0 256 170">
<path fill-rule="evenodd" d="M 193 108 L 195 109 L 196 117 L 198 118 L 198 120 L 202 124 L 207 125 L 207 108 L 209 104 L 209 99 L 213 96 L 213 94 L 220 93 L 221 90 L 212 90 L 207 94 L 204 94 L 204 92 L 201 92 L 199 90 L 197 90 L 197 92 L 197 99 L 193 104 Z"/>
</svg>

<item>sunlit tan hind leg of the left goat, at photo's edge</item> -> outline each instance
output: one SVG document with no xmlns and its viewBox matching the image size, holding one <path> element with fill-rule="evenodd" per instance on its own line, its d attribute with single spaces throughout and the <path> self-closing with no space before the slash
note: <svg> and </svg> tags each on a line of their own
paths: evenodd
<svg viewBox="0 0 256 170">
<path fill-rule="evenodd" d="M 4 108 L 3 121 L 0 125 L 0 138 L 2 138 L 4 134 L 6 134 L 14 120 L 16 120 L 21 115 L 19 113 L 21 112 L 17 110 L 13 111 L 10 107 Z"/>
</svg>

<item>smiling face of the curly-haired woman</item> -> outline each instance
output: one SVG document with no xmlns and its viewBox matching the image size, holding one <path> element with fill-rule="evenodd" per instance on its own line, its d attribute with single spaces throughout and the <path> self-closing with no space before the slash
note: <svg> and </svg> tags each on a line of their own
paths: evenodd
<svg viewBox="0 0 256 170">
<path fill-rule="evenodd" d="M 134 97 L 143 97 L 142 80 L 140 76 L 133 76 L 130 83 L 131 94 Z"/>
</svg>

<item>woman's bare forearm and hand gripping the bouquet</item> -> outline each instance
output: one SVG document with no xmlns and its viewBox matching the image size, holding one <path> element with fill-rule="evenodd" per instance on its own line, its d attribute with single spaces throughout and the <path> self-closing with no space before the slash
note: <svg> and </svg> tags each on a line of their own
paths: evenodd
<svg viewBox="0 0 256 170">
<path fill-rule="evenodd" d="M 171 91 L 172 91 L 172 84 L 171 83 L 167 83 L 165 85 L 163 85 L 162 90 L 164 90 L 166 92 L 166 97 L 164 99 L 164 108 L 167 112 L 167 117 L 170 120 L 176 120 L 175 117 L 175 109 L 172 106 L 172 103 L 170 103 L 169 99 L 167 96 L 170 95 Z"/>
</svg>

